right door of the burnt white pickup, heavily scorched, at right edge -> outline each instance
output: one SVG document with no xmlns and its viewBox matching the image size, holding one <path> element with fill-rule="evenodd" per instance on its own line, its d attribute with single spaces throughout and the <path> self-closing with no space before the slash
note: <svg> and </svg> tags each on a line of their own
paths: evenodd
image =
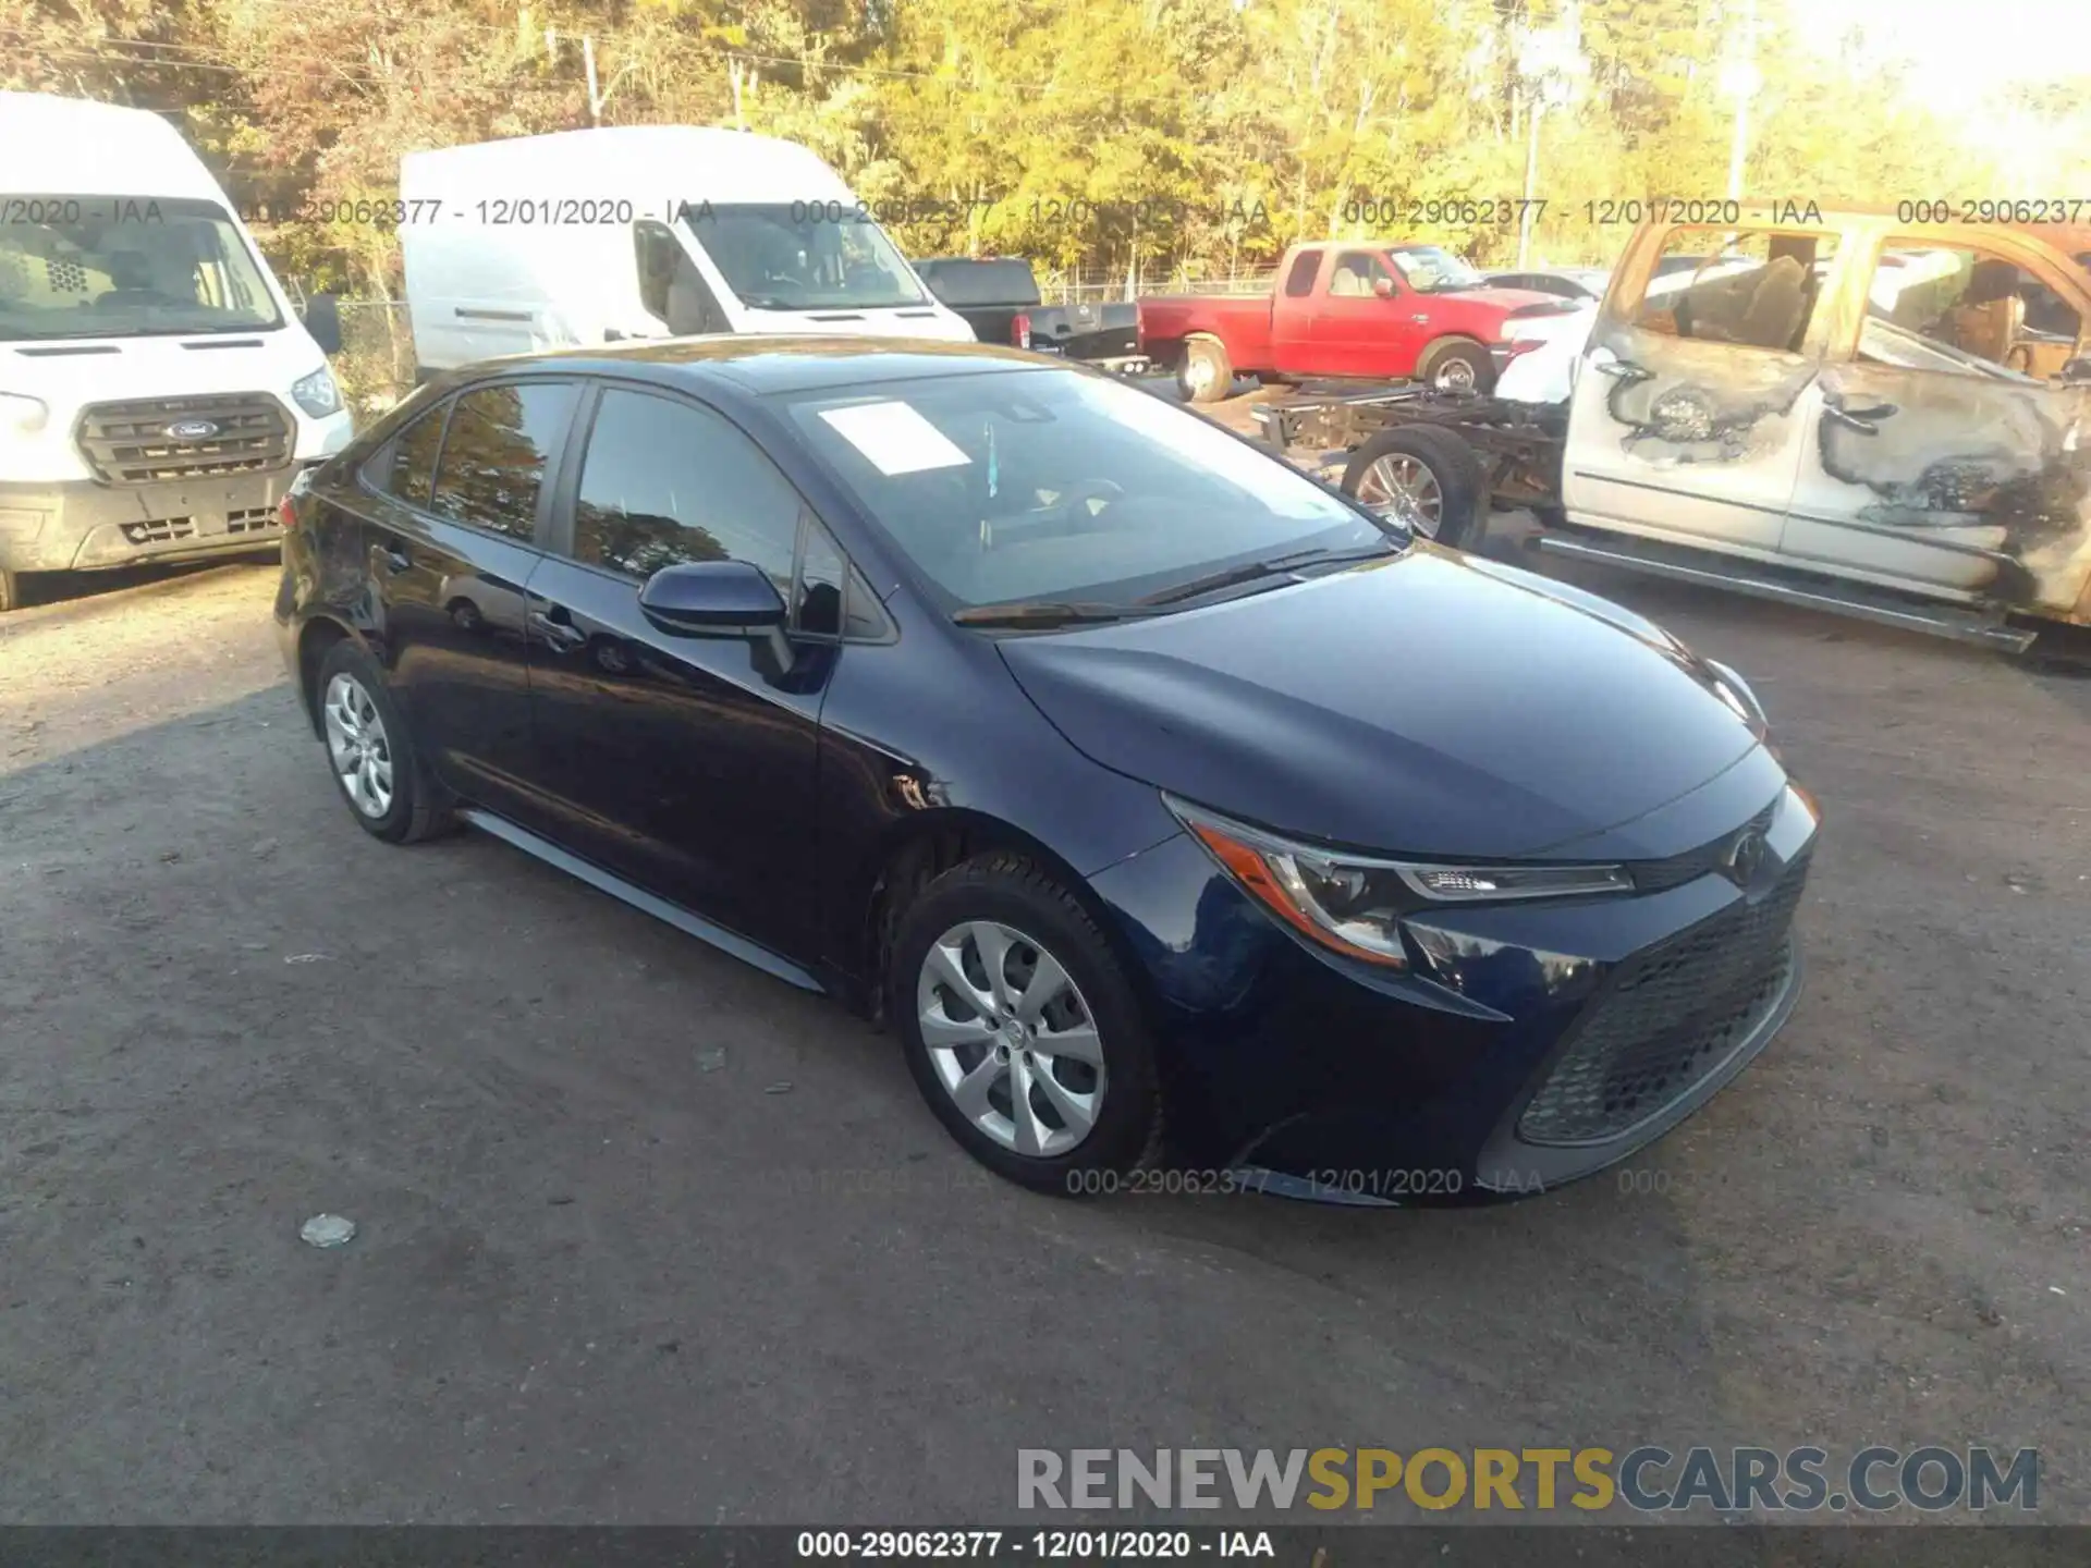
<svg viewBox="0 0 2091 1568">
<path fill-rule="evenodd" d="M 2070 610 L 2091 573 L 2091 286 L 2007 234 L 1882 236 L 1823 368 L 1782 544 L 1796 564 Z"/>
</svg>

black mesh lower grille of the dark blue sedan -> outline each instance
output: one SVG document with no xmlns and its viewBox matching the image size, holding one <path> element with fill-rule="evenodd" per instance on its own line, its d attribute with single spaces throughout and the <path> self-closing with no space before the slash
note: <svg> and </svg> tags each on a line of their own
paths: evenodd
<svg viewBox="0 0 2091 1568">
<path fill-rule="evenodd" d="M 1673 1106 L 1779 1004 L 1809 857 L 1759 903 L 1629 960 L 1583 1014 L 1575 1041 L 1518 1119 L 1526 1144 L 1604 1144 Z"/>
</svg>

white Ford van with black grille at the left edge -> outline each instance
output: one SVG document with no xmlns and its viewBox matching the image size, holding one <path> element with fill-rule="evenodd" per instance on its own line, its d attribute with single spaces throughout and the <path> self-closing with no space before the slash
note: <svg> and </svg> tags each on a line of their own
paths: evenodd
<svg viewBox="0 0 2091 1568">
<path fill-rule="evenodd" d="M 19 573 L 268 546 L 349 443 L 332 299 L 299 322 L 188 142 L 0 92 L 0 610 Z"/>
</svg>

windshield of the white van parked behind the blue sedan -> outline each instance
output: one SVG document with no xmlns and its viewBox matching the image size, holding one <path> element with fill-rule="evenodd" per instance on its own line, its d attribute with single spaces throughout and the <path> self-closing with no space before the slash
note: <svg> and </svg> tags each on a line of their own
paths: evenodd
<svg viewBox="0 0 2091 1568">
<path fill-rule="evenodd" d="M 684 224 L 749 309 L 920 305 L 893 240 L 841 201 L 686 205 Z"/>
</svg>

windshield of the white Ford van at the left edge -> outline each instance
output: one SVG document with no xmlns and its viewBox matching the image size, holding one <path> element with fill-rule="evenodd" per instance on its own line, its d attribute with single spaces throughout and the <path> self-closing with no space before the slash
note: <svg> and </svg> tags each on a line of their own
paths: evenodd
<svg viewBox="0 0 2091 1568">
<path fill-rule="evenodd" d="M 282 326 L 224 207 L 169 197 L 0 197 L 0 341 Z"/>
</svg>

